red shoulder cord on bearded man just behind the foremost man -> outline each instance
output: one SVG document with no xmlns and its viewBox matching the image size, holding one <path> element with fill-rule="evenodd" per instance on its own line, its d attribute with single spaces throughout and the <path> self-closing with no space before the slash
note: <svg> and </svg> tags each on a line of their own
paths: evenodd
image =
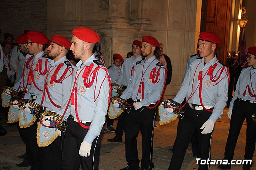
<svg viewBox="0 0 256 170">
<path fill-rule="evenodd" d="M 73 68 L 72 68 L 72 67 L 67 67 L 67 68 L 65 69 L 64 73 L 62 74 L 62 76 L 60 77 L 60 79 L 57 79 L 58 72 L 59 72 L 60 69 L 63 67 L 63 65 L 64 65 L 64 63 L 60 63 L 60 64 L 58 65 L 58 67 L 55 69 L 55 71 L 54 71 L 54 73 L 52 74 L 52 77 L 51 77 L 51 79 L 50 79 L 50 84 L 52 84 L 53 82 L 55 82 L 55 83 L 62 83 L 62 81 L 63 81 L 64 79 L 66 79 L 67 77 L 69 77 L 70 75 L 72 75 L 72 73 L 73 73 Z M 54 66 L 54 67 L 52 68 L 52 70 L 53 70 L 55 67 L 56 67 L 56 66 Z M 70 71 L 70 68 L 71 68 L 71 71 Z M 45 91 L 46 91 L 47 96 L 48 96 L 50 102 L 52 103 L 52 105 L 54 105 L 54 106 L 57 107 L 57 108 L 60 108 L 60 107 L 61 107 L 60 105 L 57 105 L 56 103 L 54 103 L 54 101 L 52 101 L 52 99 L 51 99 L 51 97 L 50 97 L 50 94 L 49 94 L 49 91 L 48 91 L 47 79 L 48 79 L 48 76 L 49 76 L 49 74 L 50 74 L 50 72 L 51 72 L 52 70 L 49 69 L 49 71 L 48 71 L 48 73 L 47 73 L 47 75 L 46 75 L 46 78 L 45 78 L 45 81 L 44 81 L 44 92 L 43 92 L 43 95 L 42 95 L 42 101 L 41 101 L 40 106 L 42 106 L 42 104 L 43 104 L 43 102 L 44 102 Z M 66 77 L 66 74 L 67 74 L 68 71 L 70 71 L 71 74 Z M 64 78 L 64 77 L 65 77 L 65 78 Z"/>
</svg>

